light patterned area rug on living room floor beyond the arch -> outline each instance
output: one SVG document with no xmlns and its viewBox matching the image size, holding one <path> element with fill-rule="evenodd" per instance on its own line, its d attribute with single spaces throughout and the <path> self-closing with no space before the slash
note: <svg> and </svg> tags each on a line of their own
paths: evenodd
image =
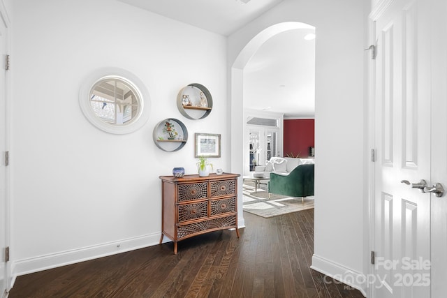
<svg viewBox="0 0 447 298">
<path fill-rule="evenodd" d="M 254 184 L 244 182 L 243 185 L 244 211 L 264 218 L 288 214 L 291 212 L 302 211 L 314 208 L 314 197 L 305 198 L 304 204 L 302 198 L 287 197 L 285 195 L 270 195 L 266 186 L 261 184 L 261 189 L 255 193 Z"/>
</svg>

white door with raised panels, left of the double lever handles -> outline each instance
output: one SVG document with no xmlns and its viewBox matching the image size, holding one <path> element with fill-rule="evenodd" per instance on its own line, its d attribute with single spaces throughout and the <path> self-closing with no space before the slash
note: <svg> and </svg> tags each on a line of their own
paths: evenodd
<svg viewBox="0 0 447 298">
<path fill-rule="evenodd" d="M 425 1 L 426 3 L 426 1 Z M 430 297 L 430 19 L 395 0 L 376 19 L 373 297 Z M 410 185 L 401 181 L 409 181 Z"/>
</svg>

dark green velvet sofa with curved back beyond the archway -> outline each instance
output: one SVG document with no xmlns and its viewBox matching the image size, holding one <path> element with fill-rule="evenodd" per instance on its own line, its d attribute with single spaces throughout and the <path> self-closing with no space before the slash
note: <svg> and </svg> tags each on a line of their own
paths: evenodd
<svg viewBox="0 0 447 298">
<path fill-rule="evenodd" d="M 314 164 L 298 165 L 289 174 L 270 173 L 268 193 L 304 198 L 314 195 Z"/>
</svg>

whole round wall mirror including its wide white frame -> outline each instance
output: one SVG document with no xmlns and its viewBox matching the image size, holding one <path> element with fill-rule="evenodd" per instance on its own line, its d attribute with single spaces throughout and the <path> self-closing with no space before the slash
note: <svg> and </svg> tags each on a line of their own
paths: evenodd
<svg viewBox="0 0 447 298">
<path fill-rule="evenodd" d="M 108 133 L 131 133 L 149 118 L 144 84 L 126 70 L 98 70 L 82 85 L 79 100 L 91 124 Z"/>
</svg>

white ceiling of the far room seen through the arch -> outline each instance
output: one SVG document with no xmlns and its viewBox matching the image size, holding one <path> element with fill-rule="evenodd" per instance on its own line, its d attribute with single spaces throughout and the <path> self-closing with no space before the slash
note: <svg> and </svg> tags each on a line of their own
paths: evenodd
<svg viewBox="0 0 447 298">
<path fill-rule="evenodd" d="M 305 40 L 314 31 L 285 31 L 258 49 L 244 68 L 244 107 L 314 117 L 315 40 Z"/>
</svg>

